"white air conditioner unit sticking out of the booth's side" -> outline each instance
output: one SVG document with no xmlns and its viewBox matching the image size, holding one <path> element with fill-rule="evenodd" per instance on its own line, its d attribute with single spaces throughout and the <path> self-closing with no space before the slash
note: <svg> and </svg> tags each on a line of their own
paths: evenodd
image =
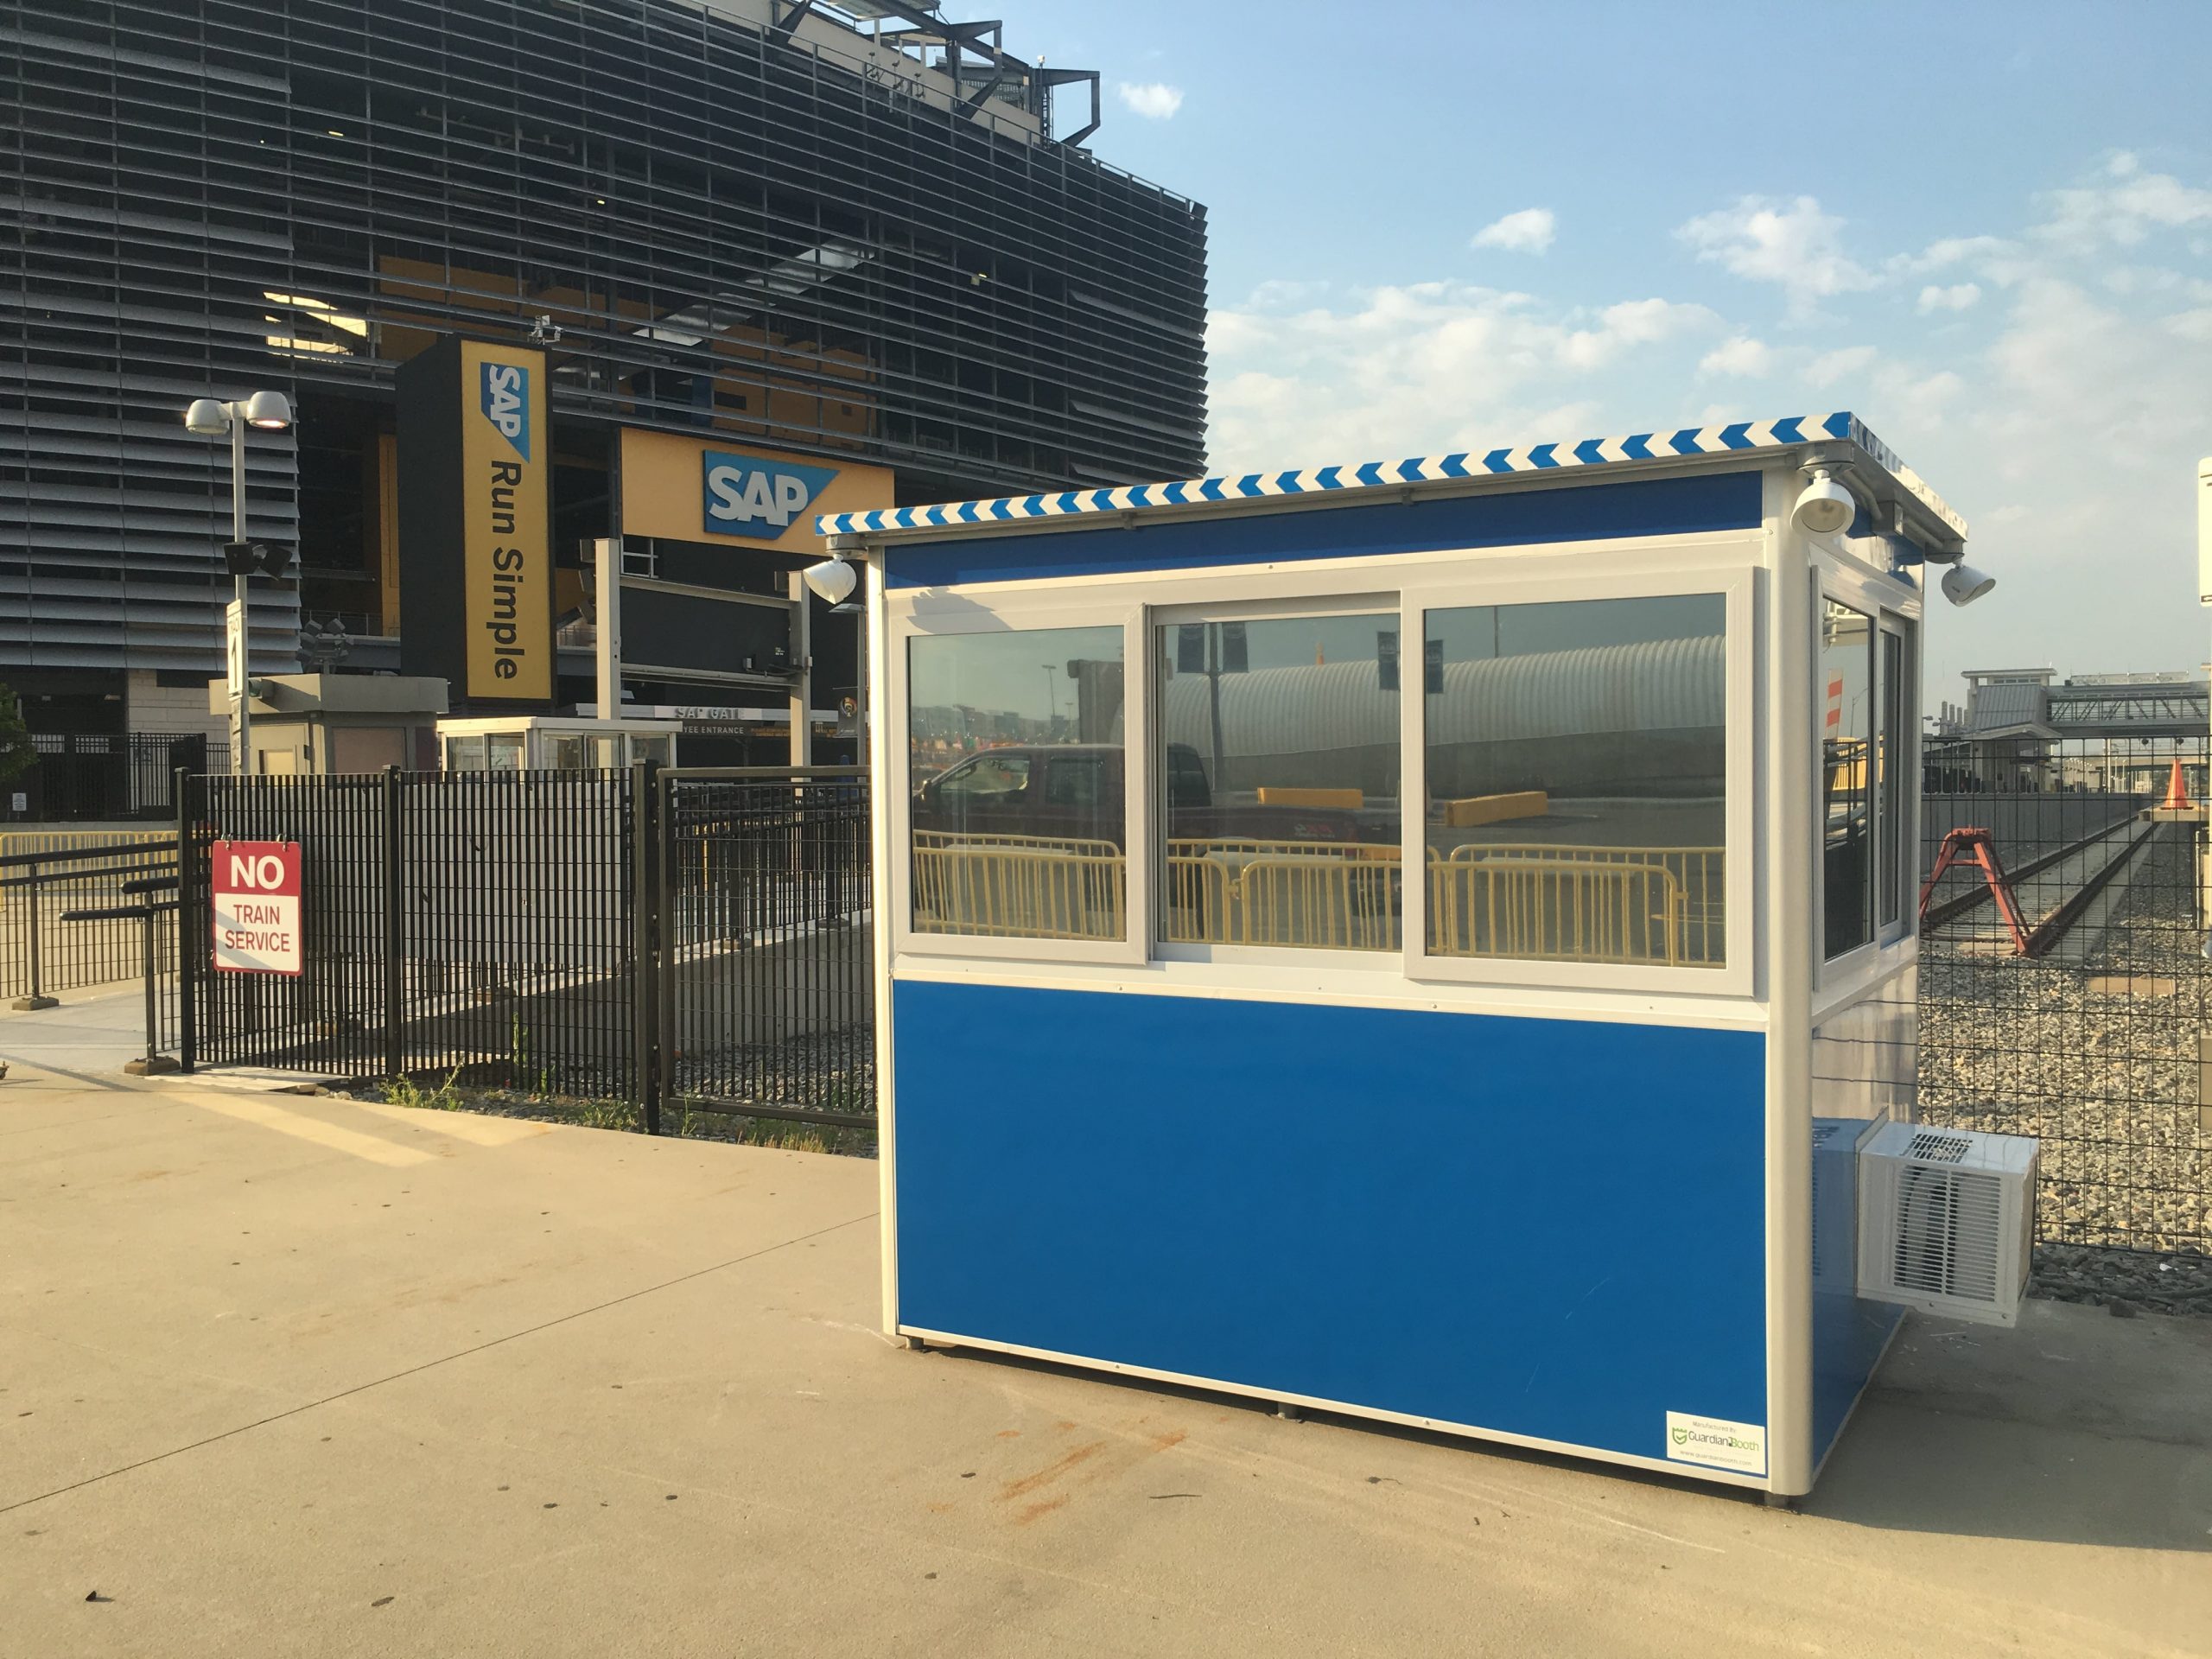
<svg viewBox="0 0 2212 1659">
<path fill-rule="evenodd" d="M 2011 1325 L 2035 1241 L 2026 1135 L 1882 1124 L 1858 1155 L 1858 1294 Z"/>
</svg>

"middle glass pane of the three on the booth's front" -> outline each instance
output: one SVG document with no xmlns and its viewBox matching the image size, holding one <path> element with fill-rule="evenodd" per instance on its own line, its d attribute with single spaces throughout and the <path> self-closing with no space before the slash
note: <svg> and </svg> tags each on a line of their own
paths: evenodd
<svg viewBox="0 0 2212 1659">
<path fill-rule="evenodd" d="M 1398 615 L 1155 628 L 1161 945 L 1400 949 Z"/>
</svg>

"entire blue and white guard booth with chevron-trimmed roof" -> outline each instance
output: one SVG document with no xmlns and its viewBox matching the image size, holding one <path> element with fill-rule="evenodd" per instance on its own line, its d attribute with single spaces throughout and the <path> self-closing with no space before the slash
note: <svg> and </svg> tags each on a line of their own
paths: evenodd
<svg viewBox="0 0 2212 1659">
<path fill-rule="evenodd" d="M 1964 551 L 1858 418 L 821 529 L 889 1332 L 1812 1489 Z"/>
</svg>

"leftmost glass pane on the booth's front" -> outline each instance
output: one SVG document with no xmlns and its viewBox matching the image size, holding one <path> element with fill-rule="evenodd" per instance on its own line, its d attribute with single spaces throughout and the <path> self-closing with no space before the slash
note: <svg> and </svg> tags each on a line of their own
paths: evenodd
<svg viewBox="0 0 2212 1659">
<path fill-rule="evenodd" d="M 907 641 L 916 933 L 1119 940 L 1121 628 Z"/>
</svg>

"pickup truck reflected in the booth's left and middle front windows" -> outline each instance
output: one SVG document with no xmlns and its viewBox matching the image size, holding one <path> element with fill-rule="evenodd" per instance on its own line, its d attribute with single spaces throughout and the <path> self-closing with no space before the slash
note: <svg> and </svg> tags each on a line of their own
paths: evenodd
<svg viewBox="0 0 2212 1659">
<path fill-rule="evenodd" d="M 1020 743 L 982 750 L 914 792 L 916 830 L 1110 841 L 1121 845 L 1119 743 Z M 1206 763 L 1168 745 L 1170 841 L 1398 841 L 1398 810 L 1214 803 Z"/>
</svg>

